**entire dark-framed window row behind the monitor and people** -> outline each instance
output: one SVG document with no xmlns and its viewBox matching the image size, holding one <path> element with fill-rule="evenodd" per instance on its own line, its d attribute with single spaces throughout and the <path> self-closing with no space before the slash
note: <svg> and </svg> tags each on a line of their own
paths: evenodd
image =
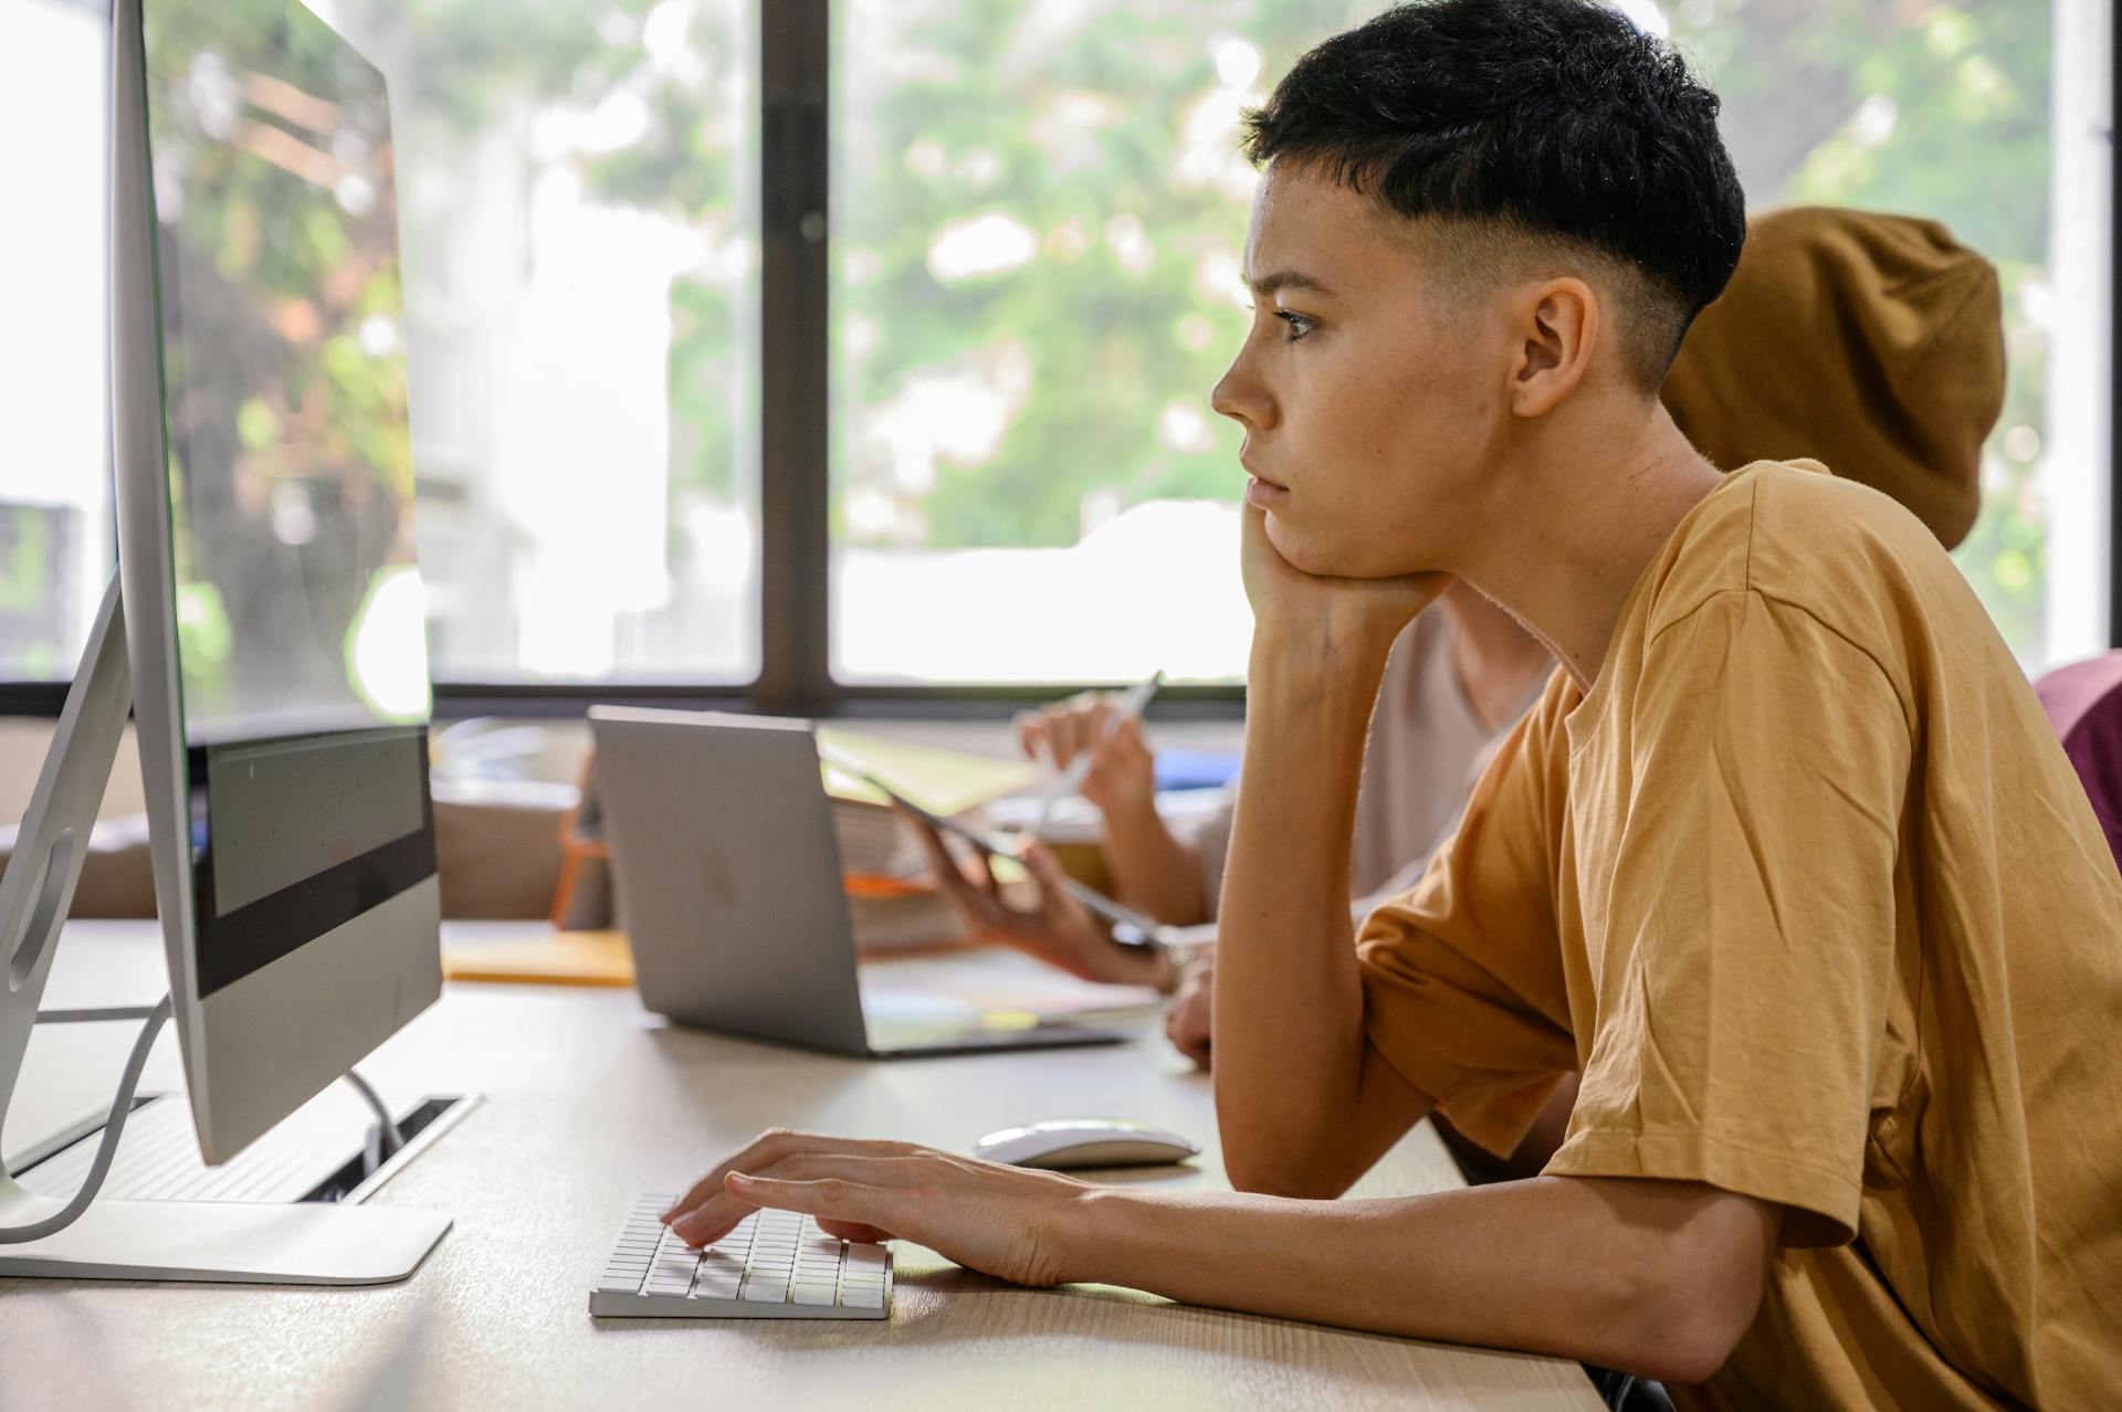
<svg viewBox="0 0 2122 1412">
<path fill-rule="evenodd" d="M 1959 562 L 2029 668 L 2101 649 L 2107 0 L 1615 4 L 1719 89 L 1757 208 L 1997 261 Z M 1237 112 L 1377 0 L 312 6 L 393 85 L 443 708 L 1243 670 Z M 0 189 L 38 212 L 0 229 L 0 683 L 64 681 L 108 581 L 104 23 L 0 6 Z"/>
</svg>

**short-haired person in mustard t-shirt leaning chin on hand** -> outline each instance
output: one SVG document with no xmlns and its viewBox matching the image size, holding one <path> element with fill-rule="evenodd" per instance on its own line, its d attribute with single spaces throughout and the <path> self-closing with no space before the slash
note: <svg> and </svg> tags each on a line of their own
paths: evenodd
<svg viewBox="0 0 2122 1412">
<path fill-rule="evenodd" d="M 1721 477 L 1655 388 L 1738 257 L 1717 100 L 1589 0 L 1396 8 L 1252 121 L 1246 789 L 1216 977 L 1235 1185 L 766 1134 L 671 1213 L 1023 1283 L 1560 1353 L 1710 1406 L 2122 1387 L 2122 876 L 1906 511 Z M 1825 354 L 1823 354 L 1825 356 Z M 1475 583 L 1562 670 L 1350 946 L 1386 645 Z M 1328 1200 L 1443 1107 L 1543 1177 Z"/>
</svg>

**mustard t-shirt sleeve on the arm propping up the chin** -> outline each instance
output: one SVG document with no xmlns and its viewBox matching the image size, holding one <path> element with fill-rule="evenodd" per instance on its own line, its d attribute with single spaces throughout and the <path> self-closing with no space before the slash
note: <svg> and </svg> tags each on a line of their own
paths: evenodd
<svg viewBox="0 0 2122 1412">
<path fill-rule="evenodd" d="M 1356 948 L 1371 1045 L 1494 1153 L 1577 1066 L 1553 912 L 1562 695 L 1558 674 L 1422 882 L 1377 907 Z"/>
</svg>

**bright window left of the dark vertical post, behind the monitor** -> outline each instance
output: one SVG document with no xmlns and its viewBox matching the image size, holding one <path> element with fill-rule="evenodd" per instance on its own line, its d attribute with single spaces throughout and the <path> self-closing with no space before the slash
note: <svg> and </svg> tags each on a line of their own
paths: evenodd
<svg viewBox="0 0 2122 1412">
<path fill-rule="evenodd" d="M 437 676 L 749 681 L 751 4 L 312 8 L 390 83 Z M 70 676 L 110 575 L 106 30 L 0 8 L 0 182 L 38 212 L 0 233 L 0 678 Z"/>
</svg>

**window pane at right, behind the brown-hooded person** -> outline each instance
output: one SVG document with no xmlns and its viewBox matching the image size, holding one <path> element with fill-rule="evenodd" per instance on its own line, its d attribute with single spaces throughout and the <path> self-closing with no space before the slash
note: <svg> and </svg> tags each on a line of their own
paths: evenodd
<svg viewBox="0 0 2122 1412">
<path fill-rule="evenodd" d="M 1944 220 L 2003 284 L 1961 570 L 2029 668 L 2107 647 L 2109 0 L 1638 0 L 1725 102 L 1753 208 Z"/>
</svg>

